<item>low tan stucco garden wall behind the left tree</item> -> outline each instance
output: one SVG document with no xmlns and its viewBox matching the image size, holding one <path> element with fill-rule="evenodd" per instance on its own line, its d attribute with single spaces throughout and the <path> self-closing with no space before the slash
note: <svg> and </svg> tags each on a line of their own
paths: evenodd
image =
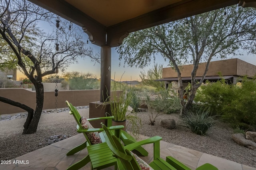
<svg viewBox="0 0 256 170">
<path fill-rule="evenodd" d="M 118 94 L 120 91 L 118 91 Z M 44 92 L 44 106 L 43 109 L 55 108 L 55 92 Z M 0 89 L 0 96 L 9 98 L 16 102 L 25 104 L 33 109 L 36 108 L 36 92 L 29 91 L 23 88 Z M 66 90 L 58 92 L 58 107 L 67 107 L 65 101 L 68 100 L 74 106 L 88 106 L 90 102 L 100 100 L 100 90 Z M 9 104 L 0 102 L 0 114 L 10 114 L 24 112 L 23 109 Z"/>
</svg>

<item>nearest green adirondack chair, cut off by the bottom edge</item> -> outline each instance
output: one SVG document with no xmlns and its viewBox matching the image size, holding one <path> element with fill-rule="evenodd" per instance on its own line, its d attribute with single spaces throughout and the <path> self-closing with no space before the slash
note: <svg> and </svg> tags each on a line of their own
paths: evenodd
<svg viewBox="0 0 256 170">
<path fill-rule="evenodd" d="M 105 131 L 103 134 L 105 136 L 106 143 L 108 144 L 110 150 L 113 152 L 114 156 L 117 158 L 117 165 L 119 170 L 191 170 L 171 156 L 167 156 L 166 161 L 160 158 L 160 140 L 162 140 L 162 137 L 151 137 L 149 139 L 145 139 L 124 147 L 120 142 L 120 139 L 112 135 L 103 123 L 101 123 L 101 125 Z M 146 162 L 136 156 L 136 154 L 130 152 L 130 150 L 132 150 L 133 147 L 138 147 L 149 143 L 154 143 L 154 160 L 148 165 Z M 197 168 L 197 170 L 203 169 L 218 170 L 211 164 L 204 164 Z"/>
</svg>

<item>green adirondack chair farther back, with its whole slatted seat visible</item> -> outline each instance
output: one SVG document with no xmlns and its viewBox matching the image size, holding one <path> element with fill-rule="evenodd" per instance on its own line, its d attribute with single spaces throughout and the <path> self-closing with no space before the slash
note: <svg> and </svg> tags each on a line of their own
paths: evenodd
<svg viewBox="0 0 256 170">
<path fill-rule="evenodd" d="M 86 135 L 86 133 L 100 132 L 100 131 L 104 131 L 104 129 L 103 128 L 83 129 L 82 124 L 80 122 L 81 116 L 78 113 L 76 107 L 74 107 L 68 101 L 66 101 L 66 104 L 70 109 L 70 114 L 72 114 L 74 119 L 76 120 L 77 132 L 83 133 L 84 137 L 86 138 L 86 141 L 84 143 L 71 149 L 66 155 L 69 156 L 69 155 L 75 154 L 76 152 L 79 152 L 80 150 L 86 147 L 88 150 L 88 155 L 86 157 L 76 162 L 75 164 L 72 164 L 70 167 L 68 167 L 67 170 L 80 169 L 89 162 L 91 162 L 92 169 L 102 169 L 102 168 L 106 168 L 113 165 L 116 166 L 116 158 L 112 156 L 112 152 L 108 148 L 108 145 L 105 142 L 104 135 L 102 133 L 99 133 L 102 143 L 97 143 L 94 145 L 92 145 L 92 143 L 90 142 L 90 139 L 88 139 L 88 136 Z M 90 118 L 90 119 L 87 119 L 87 121 L 103 120 L 103 119 L 107 119 L 108 128 L 111 131 L 111 133 L 116 135 L 116 137 L 123 139 L 126 145 L 136 141 L 130 134 L 121 130 L 123 126 L 111 126 L 113 116 Z M 137 147 L 136 150 L 144 156 L 148 155 L 148 152 L 142 147 Z"/>
</svg>

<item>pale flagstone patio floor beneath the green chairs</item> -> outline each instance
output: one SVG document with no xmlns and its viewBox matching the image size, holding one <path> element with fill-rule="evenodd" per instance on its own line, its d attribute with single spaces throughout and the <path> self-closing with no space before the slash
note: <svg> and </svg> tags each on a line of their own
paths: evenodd
<svg viewBox="0 0 256 170">
<path fill-rule="evenodd" d="M 140 139 L 146 138 L 147 137 L 145 136 L 140 136 Z M 1 162 L 0 170 L 66 170 L 70 165 L 78 162 L 87 155 L 87 149 L 83 149 L 74 155 L 66 156 L 66 153 L 70 149 L 80 145 L 84 140 L 85 138 L 83 134 L 75 135 L 68 139 L 14 158 L 9 162 L 10 164 Z M 153 144 L 145 145 L 145 149 L 148 150 L 149 155 L 141 157 L 148 163 L 153 159 L 152 148 Z M 193 170 L 205 163 L 210 163 L 216 166 L 219 170 L 256 170 L 256 168 L 252 168 L 250 166 L 242 165 L 185 147 L 180 147 L 178 145 L 173 145 L 164 141 L 160 142 L 160 156 L 163 159 L 165 159 L 166 156 L 173 156 Z M 16 161 L 18 161 L 18 164 L 15 164 Z M 114 170 L 114 167 L 105 169 Z M 81 170 L 90 170 L 90 163 L 81 168 Z"/>
</svg>

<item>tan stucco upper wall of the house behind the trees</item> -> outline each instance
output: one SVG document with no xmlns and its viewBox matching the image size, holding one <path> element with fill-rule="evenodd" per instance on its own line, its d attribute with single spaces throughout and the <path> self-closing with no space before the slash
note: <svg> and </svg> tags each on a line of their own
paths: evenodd
<svg viewBox="0 0 256 170">
<path fill-rule="evenodd" d="M 196 76 L 202 76 L 206 67 L 206 63 L 200 63 Z M 181 66 L 181 76 L 190 77 L 193 69 L 193 65 Z M 221 72 L 222 76 L 244 76 L 249 77 L 256 74 L 256 66 L 240 59 L 228 59 L 221 61 L 212 61 L 209 64 L 209 69 L 206 76 L 218 76 L 218 72 Z M 177 77 L 177 72 L 171 67 L 163 68 L 162 78 L 174 78 Z"/>
</svg>

